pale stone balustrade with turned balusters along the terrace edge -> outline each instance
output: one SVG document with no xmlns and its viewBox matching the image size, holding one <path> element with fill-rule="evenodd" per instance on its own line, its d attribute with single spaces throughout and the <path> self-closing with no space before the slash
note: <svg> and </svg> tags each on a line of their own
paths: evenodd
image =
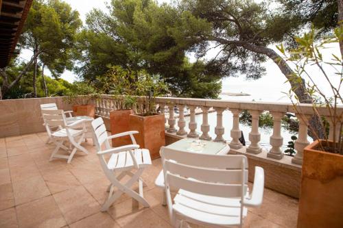
<svg viewBox="0 0 343 228">
<path fill-rule="evenodd" d="M 110 110 L 115 110 L 117 103 L 121 102 L 113 99 L 109 95 L 102 95 L 102 98 L 96 102 L 96 114 L 99 116 L 109 116 Z M 145 108 L 146 99 L 139 97 L 137 107 L 134 107 L 136 112 L 142 112 Z M 166 122 L 169 127 L 166 128 L 166 134 L 170 136 L 188 137 L 188 138 L 200 138 L 202 140 L 214 140 L 216 142 L 227 142 L 230 145 L 230 153 L 246 153 L 249 155 L 264 156 L 268 160 L 281 161 L 283 160 L 283 152 L 281 146 L 283 145 L 283 137 L 281 135 L 281 118 L 285 113 L 295 113 L 297 117 L 300 117 L 292 103 L 270 103 L 270 102 L 255 102 L 255 101 L 226 101 L 226 100 L 214 100 L 214 99 L 188 99 L 188 98 L 176 98 L 176 97 L 156 97 L 156 105 L 161 106 L 160 112 L 169 110 Z M 174 108 L 178 107 L 178 118 L 174 115 Z M 190 121 L 189 131 L 185 131 L 185 107 L 189 108 Z M 202 123 L 196 123 L 196 109 L 202 110 Z M 217 113 L 217 125 L 210 126 L 208 120 L 209 109 L 213 108 Z M 233 114 L 233 127 L 227 129 L 228 123 L 223 123 L 224 110 L 228 110 Z M 241 129 L 239 129 L 239 114 L 242 110 L 248 110 L 252 115 L 251 131 L 249 133 L 250 144 L 248 147 L 244 147 L 239 138 L 241 138 Z M 310 104 L 303 104 L 300 106 L 301 114 L 303 116 L 311 116 L 314 113 L 313 107 Z M 270 136 L 270 151 L 263 151 L 259 145 L 261 134 L 259 133 L 259 115 L 262 112 L 269 111 L 272 114 L 274 127 L 272 136 Z M 328 110 L 325 107 L 318 107 L 318 112 L 322 116 L 329 116 Z M 338 108 L 338 115 L 342 114 L 343 106 Z M 167 112 L 168 113 L 168 112 Z M 295 149 L 297 151 L 296 156 L 292 158 L 294 165 L 301 165 L 303 162 L 303 149 L 309 144 L 307 140 L 307 123 L 303 118 L 299 119 L 299 131 L 298 139 L 295 141 Z M 329 121 L 330 122 L 330 121 Z M 201 126 L 201 132 L 197 132 L 197 126 Z M 178 128 L 177 128 L 177 127 Z M 209 136 L 210 128 L 215 129 L 215 138 Z M 223 138 L 224 132 L 230 130 L 231 138 Z M 330 128 L 329 138 L 333 138 L 333 131 L 338 132 L 339 129 Z M 336 134 L 338 135 L 338 134 Z M 259 155 L 261 152 L 265 155 Z"/>
</svg>

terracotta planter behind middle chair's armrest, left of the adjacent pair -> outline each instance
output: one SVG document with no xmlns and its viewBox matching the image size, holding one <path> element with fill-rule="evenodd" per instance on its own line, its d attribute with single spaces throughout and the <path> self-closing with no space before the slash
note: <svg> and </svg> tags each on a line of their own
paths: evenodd
<svg viewBox="0 0 343 228">
<path fill-rule="evenodd" d="M 112 134 L 118 134 L 124 131 L 130 131 L 129 116 L 134 114 L 132 110 L 113 110 L 110 111 L 110 131 Z M 113 138 L 113 147 L 120 147 L 123 145 L 132 144 L 130 136 L 123 136 L 120 138 Z"/>
</svg>

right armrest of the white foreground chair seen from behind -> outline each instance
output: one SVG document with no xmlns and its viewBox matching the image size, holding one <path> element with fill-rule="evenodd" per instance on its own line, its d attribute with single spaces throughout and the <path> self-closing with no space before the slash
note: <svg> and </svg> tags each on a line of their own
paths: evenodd
<svg viewBox="0 0 343 228">
<path fill-rule="evenodd" d="M 254 186 L 249 199 L 244 199 L 244 205 L 248 207 L 259 207 L 263 200 L 264 190 L 264 170 L 263 168 L 255 167 Z"/>
</svg>

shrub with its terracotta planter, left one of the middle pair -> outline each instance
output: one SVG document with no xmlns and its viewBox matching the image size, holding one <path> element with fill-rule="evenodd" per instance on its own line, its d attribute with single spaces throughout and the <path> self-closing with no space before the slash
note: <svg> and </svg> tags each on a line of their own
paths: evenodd
<svg viewBox="0 0 343 228">
<path fill-rule="evenodd" d="M 107 94 L 113 94 L 116 100 L 116 110 L 110 111 L 111 134 L 129 130 L 129 115 L 134 114 L 132 107 L 137 103 L 136 71 L 129 71 L 120 66 L 110 66 L 105 77 L 99 78 L 99 83 Z M 130 136 L 113 138 L 113 147 L 131 144 Z"/>
</svg>

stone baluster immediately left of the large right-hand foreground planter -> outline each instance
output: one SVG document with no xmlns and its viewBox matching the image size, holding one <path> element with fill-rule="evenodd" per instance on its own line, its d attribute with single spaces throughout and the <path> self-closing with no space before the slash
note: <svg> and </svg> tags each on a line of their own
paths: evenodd
<svg viewBox="0 0 343 228">
<path fill-rule="evenodd" d="M 292 158 L 292 163 L 303 164 L 303 152 L 304 148 L 309 144 L 307 140 L 307 119 L 308 115 L 301 116 L 296 114 L 299 120 L 299 133 L 298 139 L 294 142 L 294 149 L 296 149 L 296 155 Z"/>
</svg>

